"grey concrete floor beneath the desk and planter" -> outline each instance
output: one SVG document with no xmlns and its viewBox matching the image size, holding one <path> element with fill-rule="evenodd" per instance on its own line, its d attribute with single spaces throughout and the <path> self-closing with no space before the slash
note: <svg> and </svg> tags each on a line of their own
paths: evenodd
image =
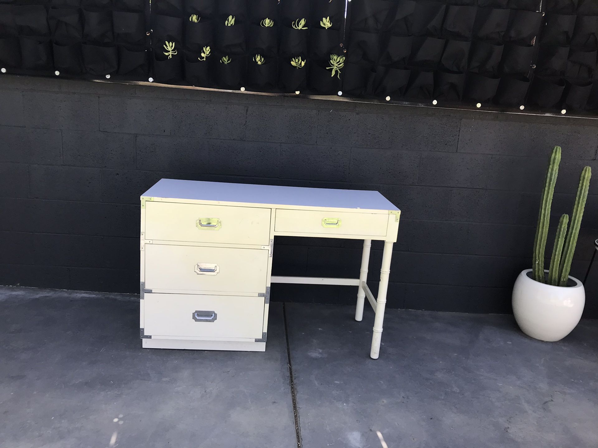
<svg viewBox="0 0 598 448">
<path fill-rule="evenodd" d="M 387 310 L 374 361 L 371 310 L 273 303 L 254 353 L 142 349 L 138 308 L 0 287 L 0 446 L 294 448 L 288 352 L 305 448 L 598 446 L 598 321 Z"/>
</svg>

